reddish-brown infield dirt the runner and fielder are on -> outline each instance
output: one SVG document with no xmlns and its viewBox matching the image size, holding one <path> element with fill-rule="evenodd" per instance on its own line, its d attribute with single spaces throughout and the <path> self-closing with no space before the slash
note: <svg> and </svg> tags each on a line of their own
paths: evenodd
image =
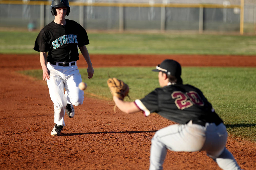
<svg viewBox="0 0 256 170">
<path fill-rule="evenodd" d="M 156 66 L 166 58 L 182 66 L 256 67 L 256 56 L 91 55 L 95 68 Z M 113 101 L 85 96 L 73 118 L 65 115 L 62 135 L 50 136 L 54 108 L 46 82 L 17 72 L 41 69 L 39 54 L 0 59 L 0 169 L 148 169 L 151 138 L 174 124 L 157 114 L 114 112 Z M 83 58 L 77 64 L 87 67 Z M 256 169 L 255 142 L 230 135 L 227 148 L 241 168 Z M 168 151 L 163 167 L 220 169 L 204 151 Z"/>
</svg>

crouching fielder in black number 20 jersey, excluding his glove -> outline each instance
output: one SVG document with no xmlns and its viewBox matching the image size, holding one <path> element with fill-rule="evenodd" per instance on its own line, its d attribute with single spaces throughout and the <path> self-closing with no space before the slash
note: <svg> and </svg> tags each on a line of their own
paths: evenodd
<svg viewBox="0 0 256 170">
<path fill-rule="evenodd" d="M 189 84 L 183 84 L 180 64 L 166 59 L 153 71 L 158 72 L 161 88 L 156 88 L 143 99 L 125 102 L 118 94 L 113 94 L 116 106 L 123 112 L 142 110 L 145 116 L 156 112 L 178 123 L 155 133 L 151 140 L 149 169 L 163 169 L 167 149 L 187 152 L 204 150 L 220 168 L 240 169 L 233 155 L 225 147 L 228 134 L 223 121 L 202 91 Z"/>
</svg>

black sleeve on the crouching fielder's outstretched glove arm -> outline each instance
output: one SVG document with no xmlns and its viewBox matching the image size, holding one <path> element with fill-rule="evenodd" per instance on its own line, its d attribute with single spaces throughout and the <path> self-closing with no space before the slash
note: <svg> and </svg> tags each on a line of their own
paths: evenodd
<svg viewBox="0 0 256 170">
<path fill-rule="evenodd" d="M 140 99 L 144 106 L 150 111 L 150 113 L 158 112 L 158 93 L 157 89 L 146 95 L 143 99 Z"/>
</svg>

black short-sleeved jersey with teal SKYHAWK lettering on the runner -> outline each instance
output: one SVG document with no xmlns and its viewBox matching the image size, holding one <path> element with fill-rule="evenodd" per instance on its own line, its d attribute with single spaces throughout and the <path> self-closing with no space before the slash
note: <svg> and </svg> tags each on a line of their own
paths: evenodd
<svg viewBox="0 0 256 170">
<path fill-rule="evenodd" d="M 89 44 L 86 30 L 77 22 L 66 19 L 66 24 L 54 21 L 38 34 L 34 50 L 48 52 L 48 62 L 71 62 L 79 59 L 78 47 Z"/>
</svg>

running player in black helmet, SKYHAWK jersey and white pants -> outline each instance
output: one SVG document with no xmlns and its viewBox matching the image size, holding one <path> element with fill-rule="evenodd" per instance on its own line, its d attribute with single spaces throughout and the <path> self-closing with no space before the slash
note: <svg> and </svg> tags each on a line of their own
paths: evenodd
<svg viewBox="0 0 256 170">
<path fill-rule="evenodd" d="M 82 82 L 76 63 L 78 47 L 88 64 L 89 79 L 94 70 L 86 48 L 89 44 L 86 31 L 77 22 L 65 19 L 70 12 L 68 0 L 53 0 L 50 9 L 55 19 L 40 31 L 34 50 L 40 51 L 42 78 L 47 82 L 54 103 L 55 125 L 51 135 L 57 136 L 65 126 L 65 111 L 70 118 L 74 117 L 73 105 L 82 104 L 84 99 L 83 91 L 78 88 Z"/>
</svg>

